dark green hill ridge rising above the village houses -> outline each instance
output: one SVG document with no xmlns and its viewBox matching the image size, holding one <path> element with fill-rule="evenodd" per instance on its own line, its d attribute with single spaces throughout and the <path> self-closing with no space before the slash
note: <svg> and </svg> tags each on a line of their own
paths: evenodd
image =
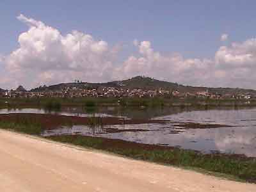
<svg viewBox="0 0 256 192">
<path fill-rule="evenodd" d="M 54 84 L 51 86 L 40 86 L 38 88 L 34 88 L 31 92 L 54 92 L 63 90 L 63 88 L 99 88 L 100 86 L 108 86 L 115 88 L 141 88 L 145 90 L 170 90 L 175 91 L 178 90 L 180 93 L 196 93 L 196 92 L 205 92 L 208 91 L 210 93 L 220 93 L 220 94 L 238 94 L 238 93 L 251 93 L 256 95 L 256 90 L 252 89 L 243 89 L 243 88 L 207 88 L 200 86 L 185 86 L 178 83 L 172 83 L 168 81 L 160 81 L 151 77 L 144 76 L 136 76 L 131 79 L 125 79 L 122 81 L 111 81 L 107 83 L 60 83 Z"/>
</svg>

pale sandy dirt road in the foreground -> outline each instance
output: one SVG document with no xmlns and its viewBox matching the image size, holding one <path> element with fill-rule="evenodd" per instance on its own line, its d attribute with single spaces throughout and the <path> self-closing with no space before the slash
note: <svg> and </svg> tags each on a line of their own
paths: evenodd
<svg viewBox="0 0 256 192">
<path fill-rule="evenodd" d="M 230 191 L 256 185 L 0 131 L 0 191 Z"/>
</svg>

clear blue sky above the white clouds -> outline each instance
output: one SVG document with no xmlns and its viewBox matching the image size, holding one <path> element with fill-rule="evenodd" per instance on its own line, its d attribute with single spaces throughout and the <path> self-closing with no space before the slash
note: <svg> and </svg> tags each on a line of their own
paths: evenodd
<svg viewBox="0 0 256 192">
<path fill-rule="evenodd" d="M 95 40 L 104 40 L 109 46 L 122 45 L 118 62 L 140 54 L 132 45 L 134 39 L 138 42 L 149 41 L 154 51 L 163 55 L 177 52 L 184 59 L 213 60 L 221 46 L 228 47 L 232 42 L 242 44 L 255 37 L 255 6 L 256 1 L 234 0 L 3 0 L 0 3 L 0 54 L 8 56 L 19 48 L 19 35 L 28 31 L 28 26 L 17 19 L 22 13 L 58 29 L 62 35 L 77 30 L 92 35 Z M 220 37 L 224 33 L 228 35 L 228 39 L 221 42 Z M 2 65 L 6 65 L 6 62 L 2 61 Z M 168 77 L 163 79 L 173 80 Z M 189 83 L 182 79 L 180 81 Z M 198 84 L 200 81 L 191 83 Z M 212 83 L 212 80 L 208 84 L 218 86 L 218 82 Z M 248 84 L 248 87 L 252 87 L 252 84 Z"/>
</svg>

